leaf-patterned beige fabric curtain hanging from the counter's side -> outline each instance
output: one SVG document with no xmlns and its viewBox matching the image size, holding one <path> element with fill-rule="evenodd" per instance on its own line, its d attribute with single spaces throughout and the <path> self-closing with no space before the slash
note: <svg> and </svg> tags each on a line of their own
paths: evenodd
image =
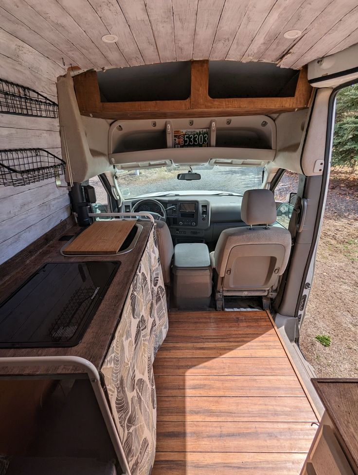
<svg viewBox="0 0 358 475">
<path fill-rule="evenodd" d="M 101 369 L 132 475 L 149 475 L 154 464 L 157 402 L 153 362 L 167 331 L 166 296 L 154 227 Z"/>
</svg>

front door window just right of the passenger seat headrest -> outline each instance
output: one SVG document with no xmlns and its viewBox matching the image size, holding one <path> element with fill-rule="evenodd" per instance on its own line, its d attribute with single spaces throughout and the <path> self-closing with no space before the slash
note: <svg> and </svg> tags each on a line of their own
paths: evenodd
<svg viewBox="0 0 358 475">
<path fill-rule="evenodd" d="M 285 171 L 274 191 L 277 223 L 288 229 L 293 207 L 295 206 L 299 174 Z"/>
</svg>

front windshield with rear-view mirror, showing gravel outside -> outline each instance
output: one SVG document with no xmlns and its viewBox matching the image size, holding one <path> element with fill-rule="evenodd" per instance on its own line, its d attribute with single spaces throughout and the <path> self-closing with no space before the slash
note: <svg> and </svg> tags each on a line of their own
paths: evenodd
<svg viewBox="0 0 358 475">
<path fill-rule="evenodd" d="M 239 194 L 260 188 L 263 167 L 235 167 L 220 165 L 193 166 L 200 180 L 178 180 L 178 173 L 186 173 L 189 166 L 119 170 L 117 181 L 124 198 L 160 196 L 163 194 Z M 182 193 L 180 193 L 182 192 Z"/>
</svg>

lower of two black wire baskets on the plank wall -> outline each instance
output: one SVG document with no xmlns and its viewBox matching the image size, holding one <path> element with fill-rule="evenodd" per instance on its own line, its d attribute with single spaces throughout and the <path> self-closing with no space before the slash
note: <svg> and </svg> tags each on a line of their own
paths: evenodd
<svg viewBox="0 0 358 475">
<path fill-rule="evenodd" d="M 66 163 L 42 148 L 0 150 L 0 184 L 24 186 L 65 173 Z"/>
</svg>

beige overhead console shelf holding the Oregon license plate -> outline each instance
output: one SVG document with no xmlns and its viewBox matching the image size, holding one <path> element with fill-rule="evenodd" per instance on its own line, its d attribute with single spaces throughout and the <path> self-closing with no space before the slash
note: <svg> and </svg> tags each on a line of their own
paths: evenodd
<svg viewBox="0 0 358 475">
<path fill-rule="evenodd" d="M 264 166 L 275 153 L 276 125 L 265 115 L 115 121 L 108 131 L 110 163 L 124 170 L 209 162 Z"/>
</svg>

